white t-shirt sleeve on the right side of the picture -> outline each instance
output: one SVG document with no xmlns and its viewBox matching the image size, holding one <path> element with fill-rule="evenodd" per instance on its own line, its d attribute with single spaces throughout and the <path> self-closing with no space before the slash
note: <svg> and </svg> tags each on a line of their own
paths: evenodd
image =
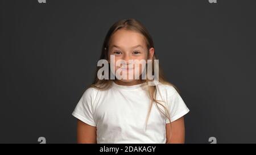
<svg viewBox="0 0 256 155">
<path fill-rule="evenodd" d="M 174 122 L 189 112 L 188 107 L 176 89 L 173 88 L 173 91 L 174 93 L 172 93 L 172 95 L 169 97 L 167 103 L 171 122 Z M 166 123 L 170 123 L 168 118 L 166 118 Z"/>
</svg>

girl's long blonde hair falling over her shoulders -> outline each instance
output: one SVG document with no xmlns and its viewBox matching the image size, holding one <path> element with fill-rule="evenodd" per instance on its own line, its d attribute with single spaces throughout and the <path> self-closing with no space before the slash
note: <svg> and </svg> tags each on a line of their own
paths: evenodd
<svg viewBox="0 0 256 155">
<path fill-rule="evenodd" d="M 150 36 L 150 33 L 148 33 L 146 28 L 142 25 L 142 23 L 140 23 L 138 20 L 135 20 L 135 19 L 122 19 L 122 20 L 119 20 L 118 22 L 114 23 L 113 26 L 110 27 L 108 33 L 106 34 L 104 44 L 102 45 L 100 60 L 102 60 L 102 59 L 108 60 L 109 59 L 108 47 L 109 47 L 109 43 L 110 43 L 110 37 L 113 35 L 113 33 L 115 31 L 120 30 L 120 29 L 131 30 L 131 31 L 141 33 L 146 39 L 147 49 L 149 50 L 150 48 L 154 48 L 154 43 L 153 43 L 152 37 Z M 157 60 L 155 52 L 152 57 L 152 65 L 153 65 L 152 73 L 154 73 L 154 60 Z M 95 87 L 96 89 L 99 89 L 99 90 L 106 90 L 110 87 L 110 85 L 112 84 L 114 79 L 98 79 L 97 73 L 98 73 L 99 69 L 100 69 L 100 67 L 97 66 L 95 79 L 94 79 L 94 82 L 92 83 L 92 85 L 90 85 L 90 87 Z M 109 73 L 110 73 L 110 69 L 109 69 Z M 149 81 L 150 80 L 148 80 L 148 78 L 143 79 L 143 82 L 146 82 L 147 84 Z M 166 85 L 174 86 L 172 83 L 167 82 L 167 80 L 164 78 L 164 75 L 163 75 L 162 69 L 160 68 L 160 65 L 159 65 L 159 82 L 166 84 Z M 147 86 L 148 86 L 148 95 L 150 97 L 150 108 L 148 110 L 146 124 L 148 122 L 148 117 L 150 115 L 152 104 L 154 102 L 156 107 L 158 108 L 158 110 L 164 116 L 166 116 L 168 118 L 168 120 L 170 121 L 170 125 L 171 125 L 171 118 L 170 118 L 170 113 L 168 112 L 168 108 L 166 108 L 166 106 L 164 106 L 162 103 L 160 103 L 160 102 L 163 102 L 162 100 L 156 100 L 156 91 L 157 91 L 156 86 L 155 85 L 154 86 L 147 85 Z M 174 86 L 174 88 L 179 93 L 179 90 L 175 86 Z M 159 109 L 158 104 L 164 108 L 164 112 Z"/>
</svg>

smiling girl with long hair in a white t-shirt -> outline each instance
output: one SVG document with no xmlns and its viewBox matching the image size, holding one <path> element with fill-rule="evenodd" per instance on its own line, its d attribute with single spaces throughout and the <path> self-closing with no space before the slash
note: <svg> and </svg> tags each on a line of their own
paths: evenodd
<svg viewBox="0 0 256 155">
<path fill-rule="evenodd" d="M 151 60 L 154 65 L 157 60 L 150 34 L 135 19 L 119 20 L 110 27 L 100 60 L 110 63 L 110 56 L 115 62 Z M 109 77 L 118 69 L 125 76 L 136 73 L 127 65 L 114 64 Z M 99 70 L 72 113 L 77 118 L 77 143 L 184 143 L 184 115 L 189 109 L 160 69 L 156 72 L 152 67 L 153 73 L 159 73 L 156 85 L 148 85 L 152 82 L 148 77 L 142 79 L 142 65 L 138 79 L 102 79 Z"/>
</svg>

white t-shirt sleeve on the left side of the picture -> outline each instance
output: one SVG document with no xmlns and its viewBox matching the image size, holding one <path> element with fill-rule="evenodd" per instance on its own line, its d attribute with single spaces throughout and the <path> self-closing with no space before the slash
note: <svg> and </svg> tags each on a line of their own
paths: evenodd
<svg viewBox="0 0 256 155">
<path fill-rule="evenodd" d="M 94 102 L 93 88 L 85 90 L 80 98 L 72 115 L 82 122 L 96 127 L 96 122 L 93 117 L 93 102 Z"/>
</svg>

